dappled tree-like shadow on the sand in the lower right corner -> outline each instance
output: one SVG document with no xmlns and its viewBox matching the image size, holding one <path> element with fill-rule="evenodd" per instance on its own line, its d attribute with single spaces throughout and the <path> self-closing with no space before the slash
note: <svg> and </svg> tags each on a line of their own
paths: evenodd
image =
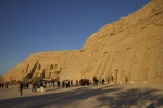
<svg viewBox="0 0 163 108">
<path fill-rule="evenodd" d="M 163 95 L 158 94 L 159 89 L 127 89 L 114 94 L 114 96 L 101 96 L 98 98 L 101 105 L 111 108 L 158 108 L 163 107 Z"/>
</svg>

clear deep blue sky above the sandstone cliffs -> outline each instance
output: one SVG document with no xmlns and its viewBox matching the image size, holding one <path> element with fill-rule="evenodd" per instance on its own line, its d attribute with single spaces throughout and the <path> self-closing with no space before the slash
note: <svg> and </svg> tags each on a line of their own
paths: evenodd
<svg viewBox="0 0 163 108">
<path fill-rule="evenodd" d="M 30 53 L 79 50 L 105 24 L 151 0 L 0 0 L 0 74 Z"/>
</svg>

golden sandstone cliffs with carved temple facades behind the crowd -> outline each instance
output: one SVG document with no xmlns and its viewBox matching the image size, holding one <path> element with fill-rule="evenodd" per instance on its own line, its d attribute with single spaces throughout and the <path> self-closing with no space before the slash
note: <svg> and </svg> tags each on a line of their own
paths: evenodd
<svg viewBox="0 0 163 108">
<path fill-rule="evenodd" d="M 80 50 L 33 53 L 5 74 L 5 80 L 105 79 L 115 82 L 163 82 L 163 0 L 92 34 Z"/>
</svg>

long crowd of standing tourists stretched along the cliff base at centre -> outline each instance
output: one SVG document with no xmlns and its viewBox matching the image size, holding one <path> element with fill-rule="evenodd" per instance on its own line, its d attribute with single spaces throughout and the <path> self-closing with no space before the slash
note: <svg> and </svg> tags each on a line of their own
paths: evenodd
<svg viewBox="0 0 163 108">
<path fill-rule="evenodd" d="M 106 77 L 106 83 L 109 84 L 110 82 L 113 82 L 113 76 L 111 77 Z M 76 80 L 75 82 L 73 82 L 73 80 L 63 80 L 62 82 L 58 79 L 58 80 L 53 80 L 53 81 L 36 81 L 36 82 L 32 82 L 32 83 L 23 83 L 20 82 L 20 93 L 22 95 L 22 91 L 23 89 L 28 89 L 29 85 L 32 86 L 32 92 L 37 92 L 38 88 L 43 87 L 43 88 L 48 88 L 48 87 L 57 87 L 57 88 L 68 88 L 68 87 L 74 87 L 74 86 L 96 86 L 98 84 L 104 84 L 105 83 L 105 79 L 97 79 L 96 76 L 91 80 L 89 79 L 80 79 L 80 80 Z"/>
</svg>

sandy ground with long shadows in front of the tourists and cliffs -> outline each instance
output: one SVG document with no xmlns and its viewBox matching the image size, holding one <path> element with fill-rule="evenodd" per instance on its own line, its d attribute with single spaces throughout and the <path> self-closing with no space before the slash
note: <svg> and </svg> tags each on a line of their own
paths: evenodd
<svg viewBox="0 0 163 108">
<path fill-rule="evenodd" d="M 17 86 L 0 89 L 0 108 L 163 108 L 163 84 L 106 84 L 46 88 L 33 93 Z"/>
</svg>

